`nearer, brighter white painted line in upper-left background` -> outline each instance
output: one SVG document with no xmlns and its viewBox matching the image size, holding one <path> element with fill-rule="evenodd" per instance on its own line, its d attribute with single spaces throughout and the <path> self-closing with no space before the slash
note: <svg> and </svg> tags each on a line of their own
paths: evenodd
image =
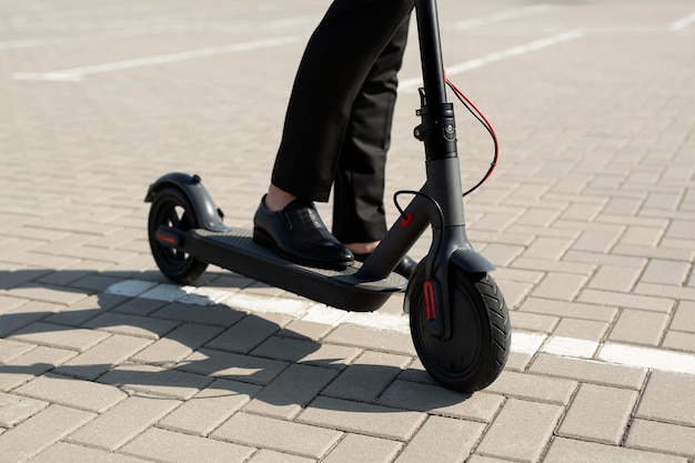
<svg viewBox="0 0 695 463">
<path fill-rule="evenodd" d="M 85 66 L 81 68 L 60 69 L 48 72 L 16 72 L 12 74 L 12 79 L 43 81 L 80 81 L 82 80 L 82 78 L 84 78 L 84 76 L 90 74 L 120 71 L 124 69 L 143 68 L 148 66 L 165 64 L 198 58 L 208 58 L 223 53 L 236 53 L 242 51 L 259 50 L 263 48 L 294 43 L 298 40 L 299 36 L 288 36 L 275 39 L 258 40 L 253 42 L 232 43 L 229 46 L 182 51 L 179 53 L 158 54 L 152 57 L 137 58 L 132 60 L 113 61 L 102 64 Z"/>
</svg>

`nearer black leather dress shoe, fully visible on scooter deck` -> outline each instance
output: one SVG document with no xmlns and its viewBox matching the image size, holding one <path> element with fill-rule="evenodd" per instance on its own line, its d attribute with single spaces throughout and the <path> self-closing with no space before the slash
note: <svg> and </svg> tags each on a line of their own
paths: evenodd
<svg viewBox="0 0 695 463">
<path fill-rule="evenodd" d="M 339 269 L 354 261 L 352 252 L 328 231 L 311 201 L 294 200 L 274 212 L 263 197 L 253 217 L 253 241 L 302 265 Z"/>
</svg>

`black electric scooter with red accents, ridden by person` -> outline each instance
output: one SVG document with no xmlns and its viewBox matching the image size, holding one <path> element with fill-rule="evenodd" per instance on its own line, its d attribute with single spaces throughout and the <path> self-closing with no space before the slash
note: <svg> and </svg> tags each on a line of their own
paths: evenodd
<svg viewBox="0 0 695 463">
<path fill-rule="evenodd" d="M 446 100 L 436 0 L 415 0 L 423 88 L 421 123 L 426 181 L 363 262 L 344 269 L 318 269 L 284 260 L 256 244 L 252 231 L 223 223 L 200 177 L 169 173 L 150 185 L 149 241 L 162 273 L 192 284 L 209 263 L 350 311 L 374 311 L 405 291 L 415 351 L 442 385 L 474 392 L 502 372 L 511 344 L 504 298 L 488 272 L 494 265 L 477 253 L 465 233 L 456 125 Z M 401 192 L 403 193 L 403 192 Z M 396 202 L 397 205 L 397 202 Z M 409 280 L 393 272 L 422 233 L 432 227 L 432 244 Z"/>
</svg>

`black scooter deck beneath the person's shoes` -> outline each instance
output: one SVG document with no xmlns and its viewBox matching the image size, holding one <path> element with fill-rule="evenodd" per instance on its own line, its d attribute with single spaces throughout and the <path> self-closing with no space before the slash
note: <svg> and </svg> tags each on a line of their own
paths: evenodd
<svg viewBox="0 0 695 463">
<path fill-rule="evenodd" d="M 274 250 L 256 244 L 252 231 L 246 229 L 233 228 L 225 232 L 191 230 L 179 248 L 201 261 L 336 309 L 355 312 L 379 309 L 391 295 L 404 291 L 407 285 L 407 280 L 396 273 L 383 280 L 364 280 L 357 274 L 359 262 L 344 270 L 318 269 L 290 262 Z"/>
</svg>

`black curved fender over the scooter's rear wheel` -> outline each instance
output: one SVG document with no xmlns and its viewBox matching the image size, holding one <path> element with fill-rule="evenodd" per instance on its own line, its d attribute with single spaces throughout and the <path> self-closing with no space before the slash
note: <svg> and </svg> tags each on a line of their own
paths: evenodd
<svg viewBox="0 0 695 463">
<path fill-rule="evenodd" d="M 214 204 L 212 197 L 199 175 L 190 175 L 182 172 L 171 172 L 162 175 L 150 185 L 144 197 L 144 202 L 152 202 L 157 193 L 164 187 L 178 188 L 185 194 L 193 205 L 201 228 L 219 232 L 230 230 L 229 227 L 222 223 L 222 213 Z"/>
</svg>

